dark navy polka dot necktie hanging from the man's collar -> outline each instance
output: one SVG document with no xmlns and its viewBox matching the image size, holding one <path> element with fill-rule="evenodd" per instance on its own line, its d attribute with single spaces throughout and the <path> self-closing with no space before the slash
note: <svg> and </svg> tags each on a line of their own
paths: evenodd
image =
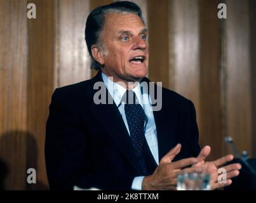
<svg viewBox="0 0 256 203">
<path fill-rule="evenodd" d="M 148 146 L 144 134 L 145 113 L 142 106 L 136 102 L 137 96 L 134 91 L 126 91 L 125 95 L 125 115 L 128 123 L 131 142 L 137 155 L 138 162 L 144 174 L 147 174 L 147 164 L 144 159 L 144 149 Z"/>
</svg>

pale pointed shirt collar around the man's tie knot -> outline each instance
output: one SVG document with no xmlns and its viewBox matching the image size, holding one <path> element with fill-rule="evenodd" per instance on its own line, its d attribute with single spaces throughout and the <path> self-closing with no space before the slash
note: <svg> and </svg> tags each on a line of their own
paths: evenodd
<svg viewBox="0 0 256 203">
<path fill-rule="evenodd" d="M 121 86 L 120 84 L 113 82 L 107 75 L 105 75 L 102 72 L 102 79 L 104 81 L 105 86 L 107 87 L 107 90 L 111 94 L 112 98 L 114 99 L 114 103 L 119 107 L 121 104 L 121 99 L 123 98 L 123 95 L 126 92 L 126 89 Z M 140 85 L 137 85 L 135 88 L 132 89 L 137 96 L 138 103 L 142 105 L 142 93 L 140 90 Z"/>
</svg>

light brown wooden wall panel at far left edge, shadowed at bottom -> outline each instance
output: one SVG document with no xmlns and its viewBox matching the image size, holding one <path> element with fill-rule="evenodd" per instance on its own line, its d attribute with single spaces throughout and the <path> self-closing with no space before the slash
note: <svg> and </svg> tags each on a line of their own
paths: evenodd
<svg viewBox="0 0 256 203">
<path fill-rule="evenodd" d="M 0 1 L 0 190 L 25 188 L 26 5 Z"/>
</svg>

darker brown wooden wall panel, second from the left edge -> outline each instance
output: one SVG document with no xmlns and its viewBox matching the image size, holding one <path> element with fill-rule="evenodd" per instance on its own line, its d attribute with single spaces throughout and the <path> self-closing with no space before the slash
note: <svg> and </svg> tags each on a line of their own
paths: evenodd
<svg viewBox="0 0 256 203">
<path fill-rule="evenodd" d="M 37 184 L 27 187 L 44 189 L 48 184 L 44 162 L 45 125 L 53 92 L 55 65 L 55 1 L 32 2 L 36 4 L 37 17 L 28 20 L 27 129 L 31 139 L 27 140 L 30 154 L 27 167 L 36 167 Z M 34 160 L 37 160 L 36 166 Z"/>
</svg>

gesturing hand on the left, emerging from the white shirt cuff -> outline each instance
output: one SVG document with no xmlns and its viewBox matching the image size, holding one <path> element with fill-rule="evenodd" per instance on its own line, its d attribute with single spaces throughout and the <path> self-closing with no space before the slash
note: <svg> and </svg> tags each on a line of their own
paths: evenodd
<svg viewBox="0 0 256 203">
<path fill-rule="evenodd" d="M 196 158 L 188 158 L 172 162 L 174 157 L 179 154 L 181 145 L 178 144 L 172 148 L 159 162 L 151 176 L 145 176 L 142 182 L 142 190 L 176 190 L 177 176 L 179 173 L 197 172 L 201 167 L 189 167 L 192 164 L 198 163 Z M 196 165 L 194 165 L 196 166 Z"/>
</svg>

